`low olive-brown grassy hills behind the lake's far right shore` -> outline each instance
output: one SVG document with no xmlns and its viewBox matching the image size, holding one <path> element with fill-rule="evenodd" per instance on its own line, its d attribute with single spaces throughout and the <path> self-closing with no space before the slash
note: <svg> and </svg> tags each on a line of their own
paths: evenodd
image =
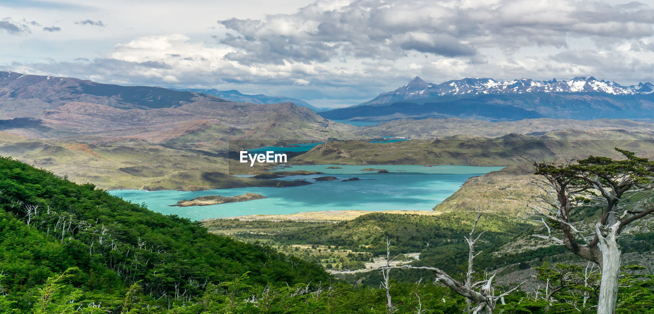
<svg viewBox="0 0 654 314">
<path fill-rule="evenodd" d="M 654 156 L 654 133 L 624 130 L 555 131 L 545 135 L 509 134 L 495 139 L 457 135 L 395 143 L 330 141 L 290 160 L 291 164 L 405 164 L 513 166 L 532 160 L 563 160 L 590 155 L 619 158 L 613 148 Z"/>
</svg>

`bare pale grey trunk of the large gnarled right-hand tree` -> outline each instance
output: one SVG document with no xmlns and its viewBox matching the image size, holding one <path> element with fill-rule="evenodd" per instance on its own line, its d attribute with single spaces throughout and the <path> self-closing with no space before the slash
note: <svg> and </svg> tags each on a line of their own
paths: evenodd
<svg viewBox="0 0 654 314">
<path fill-rule="evenodd" d="M 617 243 L 619 223 L 610 227 L 598 224 L 598 247 L 602 252 L 602 282 L 597 305 L 597 314 L 614 314 L 617 302 L 618 278 L 620 275 L 620 246 Z"/>
</svg>

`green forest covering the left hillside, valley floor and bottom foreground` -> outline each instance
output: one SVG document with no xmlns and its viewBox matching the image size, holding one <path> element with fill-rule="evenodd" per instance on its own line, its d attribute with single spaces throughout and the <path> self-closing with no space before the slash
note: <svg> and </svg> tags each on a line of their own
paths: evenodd
<svg viewBox="0 0 654 314">
<path fill-rule="evenodd" d="M 375 282 L 379 276 L 370 277 L 368 284 L 337 281 L 318 264 L 279 253 L 265 243 L 216 236 L 199 222 L 154 213 L 92 184 L 71 183 L 10 158 L 0 158 L 0 207 L 0 314 L 389 311 L 387 290 Z M 370 247 L 378 254 L 386 250 L 388 237 L 393 254 L 422 252 L 421 265 L 438 266 L 460 278 L 467 254 L 462 236 L 470 232 L 472 222 L 460 223 L 461 215 L 429 219 L 365 215 L 351 222 L 311 226 L 301 233 L 300 229 L 280 233 L 274 239 L 288 244 L 311 238 L 316 245 L 358 251 Z M 368 228 L 372 224 L 376 228 Z M 479 226 L 485 231 L 480 251 L 513 241 L 532 228 L 494 216 L 483 218 Z M 370 232 L 360 232 L 366 228 Z M 351 230 L 357 230 L 360 237 L 353 239 Z M 645 234 L 624 247 L 638 250 L 633 247 L 636 243 L 650 239 Z M 501 258 L 533 261 L 530 254 L 538 253 Z M 497 256 L 481 254 L 476 276 L 487 275 L 484 270 L 492 269 L 497 260 Z M 596 273 L 584 277 L 585 268 L 574 262 L 525 265 L 536 266 L 542 287 L 506 294 L 496 307 L 498 313 L 596 311 Z M 411 271 L 390 272 L 392 311 L 464 311 L 462 296 L 434 283 L 426 271 L 407 275 Z M 620 281 L 617 313 L 654 311 L 653 276 L 633 266 L 623 269 Z M 547 291 L 551 292 L 549 285 L 558 290 L 545 300 Z M 508 291 L 513 287 L 496 288 Z"/>
</svg>

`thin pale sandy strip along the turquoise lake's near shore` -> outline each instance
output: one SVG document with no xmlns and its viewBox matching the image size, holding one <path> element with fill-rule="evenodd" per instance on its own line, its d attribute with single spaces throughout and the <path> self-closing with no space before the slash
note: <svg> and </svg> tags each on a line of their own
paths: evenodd
<svg viewBox="0 0 654 314">
<path fill-rule="evenodd" d="M 295 220 L 295 221 L 323 221 L 323 222 L 339 222 L 345 220 L 352 220 L 356 217 L 370 214 L 370 213 L 389 213 L 389 214 L 417 214 L 417 215 L 439 215 L 436 211 L 303 211 L 301 213 L 288 214 L 288 215 L 245 215 L 226 218 L 209 218 L 207 220 L 215 219 L 238 219 L 242 221 L 251 220 L 268 220 L 268 221 L 282 221 L 282 220 Z"/>
</svg>

